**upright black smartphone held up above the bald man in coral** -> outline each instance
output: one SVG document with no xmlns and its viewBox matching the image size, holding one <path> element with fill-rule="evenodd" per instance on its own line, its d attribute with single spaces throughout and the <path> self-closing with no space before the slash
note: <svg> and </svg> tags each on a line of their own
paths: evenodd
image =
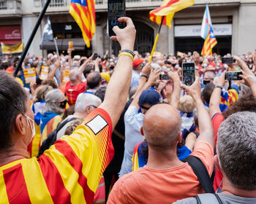
<svg viewBox="0 0 256 204">
<path fill-rule="evenodd" d="M 187 86 L 195 82 L 195 63 L 182 64 L 182 82 Z"/>
</svg>

